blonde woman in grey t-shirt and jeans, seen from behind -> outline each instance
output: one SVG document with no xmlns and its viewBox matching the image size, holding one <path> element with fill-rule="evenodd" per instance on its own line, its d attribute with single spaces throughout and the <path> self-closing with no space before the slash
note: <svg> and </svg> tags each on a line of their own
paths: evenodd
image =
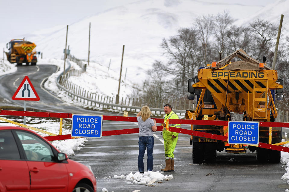
<svg viewBox="0 0 289 192">
<path fill-rule="evenodd" d="M 144 152 L 147 149 L 148 171 L 153 170 L 153 149 L 154 149 L 154 135 L 153 131 L 157 131 L 156 120 L 149 118 L 151 116 L 151 110 L 148 106 L 141 107 L 141 111 L 138 112 L 136 118 L 138 120 L 138 172 L 144 173 Z"/>
</svg>

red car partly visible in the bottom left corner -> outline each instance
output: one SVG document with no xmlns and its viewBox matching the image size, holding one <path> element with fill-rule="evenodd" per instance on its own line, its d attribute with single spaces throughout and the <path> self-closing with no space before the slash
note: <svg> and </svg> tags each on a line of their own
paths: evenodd
<svg viewBox="0 0 289 192">
<path fill-rule="evenodd" d="M 26 128 L 0 127 L 0 191 L 96 192 L 89 166 Z"/>
</svg>

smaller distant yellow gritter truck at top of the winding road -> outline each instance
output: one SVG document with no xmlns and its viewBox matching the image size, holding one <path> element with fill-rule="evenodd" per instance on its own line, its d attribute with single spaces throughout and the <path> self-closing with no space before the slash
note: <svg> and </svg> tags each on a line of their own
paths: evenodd
<svg viewBox="0 0 289 192">
<path fill-rule="evenodd" d="M 36 65 L 37 57 L 36 52 L 33 51 L 36 47 L 36 44 L 31 43 L 30 41 L 25 41 L 24 39 L 12 39 L 9 43 L 6 44 L 8 52 L 6 53 L 7 60 L 10 63 L 17 63 L 17 65 Z"/>
</svg>

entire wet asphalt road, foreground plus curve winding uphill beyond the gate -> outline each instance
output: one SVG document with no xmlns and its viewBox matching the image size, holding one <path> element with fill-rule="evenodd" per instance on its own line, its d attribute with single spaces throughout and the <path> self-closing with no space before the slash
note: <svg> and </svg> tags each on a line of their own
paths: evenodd
<svg viewBox="0 0 289 192">
<path fill-rule="evenodd" d="M 27 108 L 62 113 L 99 114 L 107 113 L 90 111 L 66 105 L 55 95 L 48 94 L 40 85 L 43 79 L 57 70 L 54 65 L 20 66 L 16 73 L 0 77 L 0 97 L 8 104 L 23 107 L 23 101 L 11 100 L 24 76 L 28 75 L 36 89 L 40 101 L 27 101 Z M 110 114 L 112 115 L 112 114 Z M 120 114 L 121 116 L 122 114 Z M 137 128 L 132 122 L 104 121 L 103 130 L 117 130 Z M 184 128 L 184 127 L 182 127 Z M 188 127 L 187 127 L 188 128 Z M 156 133 L 161 139 L 160 132 Z M 163 143 L 154 139 L 154 169 L 160 171 L 165 165 Z M 217 152 L 217 161 L 214 164 L 193 164 L 192 146 L 189 136 L 179 134 L 175 150 L 174 179 L 154 183 L 152 185 L 126 184 L 121 179 L 105 179 L 114 175 L 127 175 L 138 171 L 138 134 L 106 136 L 101 139 L 89 139 L 84 148 L 70 157 L 75 161 L 92 166 L 97 177 L 97 192 L 102 188 L 115 192 L 149 191 L 284 191 L 289 185 L 281 180 L 286 170 L 283 164 L 258 164 L 256 153 L 244 155 L 229 155 Z M 146 155 L 145 155 L 146 158 Z M 145 159 L 146 161 L 146 159 Z M 144 162 L 146 167 L 146 162 Z"/>
</svg>

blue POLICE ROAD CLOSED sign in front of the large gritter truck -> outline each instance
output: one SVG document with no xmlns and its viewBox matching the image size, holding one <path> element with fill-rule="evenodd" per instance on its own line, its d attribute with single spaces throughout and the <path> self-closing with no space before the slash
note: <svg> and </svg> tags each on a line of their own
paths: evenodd
<svg viewBox="0 0 289 192">
<path fill-rule="evenodd" d="M 228 143 L 258 145 L 259 144 L 259 122 L 229 121 Z"/>
</svg>

